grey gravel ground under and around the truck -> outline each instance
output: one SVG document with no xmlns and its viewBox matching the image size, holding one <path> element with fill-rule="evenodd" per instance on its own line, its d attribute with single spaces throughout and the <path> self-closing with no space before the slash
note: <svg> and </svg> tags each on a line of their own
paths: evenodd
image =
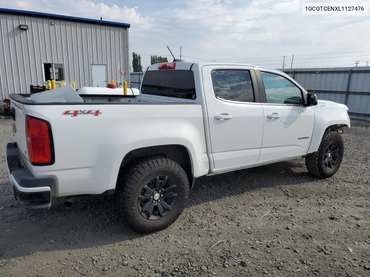
<svg viewBox="0 0 370 277">
<path fill-rule="evenodd" d="M 303 159 L 199 178 L 172 226 L 139 235 L 111 196 L 22 208 L 0 118 L 0 276 L 370 276 L 370 123 L 352 124 L 332 178 L 311 177 Z"/>
</svg>

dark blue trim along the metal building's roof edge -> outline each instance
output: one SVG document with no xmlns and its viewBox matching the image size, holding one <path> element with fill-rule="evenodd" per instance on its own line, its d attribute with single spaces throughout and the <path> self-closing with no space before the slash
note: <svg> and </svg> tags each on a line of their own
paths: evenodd
<svg viewBox="0 0 370 277">
<path fill-rule="evenodd" d="M 36 17 L 43 17 L 43 18 L 52 18 L 52 19 L 76 21 L 76 22 L 91 23 L 91 24 L 98 24 L 98 25 L 108 25 L 108 26 L 115 26 L 115 27 L 125 27 L 125 28 L 130 27 L 130 24 L 128 23 L 112 22 L 112 21 L 74 17 L 74 16 L 60 16 L 58 14 L 39 13 L 37 11 L 13 10 L 10 8 L 0 8 L 0 13 L 17 14 L 21 16 L 36 16 Z"/>
</svg>

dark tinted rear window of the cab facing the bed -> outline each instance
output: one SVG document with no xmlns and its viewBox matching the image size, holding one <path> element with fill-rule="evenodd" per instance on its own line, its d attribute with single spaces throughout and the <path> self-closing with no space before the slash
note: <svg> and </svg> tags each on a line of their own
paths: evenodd
<svg viewBox="0 0 370 277">
<path fill-rule="evenodd" d="M 146 71 L 141 93 L 195 100 L 194 72 L 182 69 Z"/>
</svg>

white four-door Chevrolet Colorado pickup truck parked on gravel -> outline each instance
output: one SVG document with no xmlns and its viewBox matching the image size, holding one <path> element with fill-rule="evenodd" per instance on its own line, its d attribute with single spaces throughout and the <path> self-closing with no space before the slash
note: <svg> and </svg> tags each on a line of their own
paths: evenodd
<svg viewBox="0 0 370 277">
<path fill-rule="evenodd" d="M 340 130 L 350 127 L 347 106 L 253 65 L 154 64 L 138 96 L 76 96 L 10 95 L 14 195 L 27 209 L 48 209 L 57 197 L 71 205 L 114 194 L 141 233 L 171 225 L 203 175 L 304 157 L 308 172 L 331 177 L 343 158 Z"/>
</svg>

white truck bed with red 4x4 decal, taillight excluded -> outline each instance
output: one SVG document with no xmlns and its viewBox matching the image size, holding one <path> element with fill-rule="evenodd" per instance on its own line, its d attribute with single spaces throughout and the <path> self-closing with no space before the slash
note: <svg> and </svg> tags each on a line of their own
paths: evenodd
<svg viewBox="0 0 370 277">
<path fill-rule="evenodd" d="M 122 158 L 148 145 L 184 145 L 199 153 L 195 168 L 208 171 L 200 104 L 148 102 L 132 95 L 80 95 L 84 102 L 79 103 L 40 103 L 29 97 L 10 95 L 17 148 L 32 176 L 55 178 L 58 197 L 114 189 Z M 55 161 L 50 165 L 28 160 L 26 114 L 50 124 Z"/>
</svg>

